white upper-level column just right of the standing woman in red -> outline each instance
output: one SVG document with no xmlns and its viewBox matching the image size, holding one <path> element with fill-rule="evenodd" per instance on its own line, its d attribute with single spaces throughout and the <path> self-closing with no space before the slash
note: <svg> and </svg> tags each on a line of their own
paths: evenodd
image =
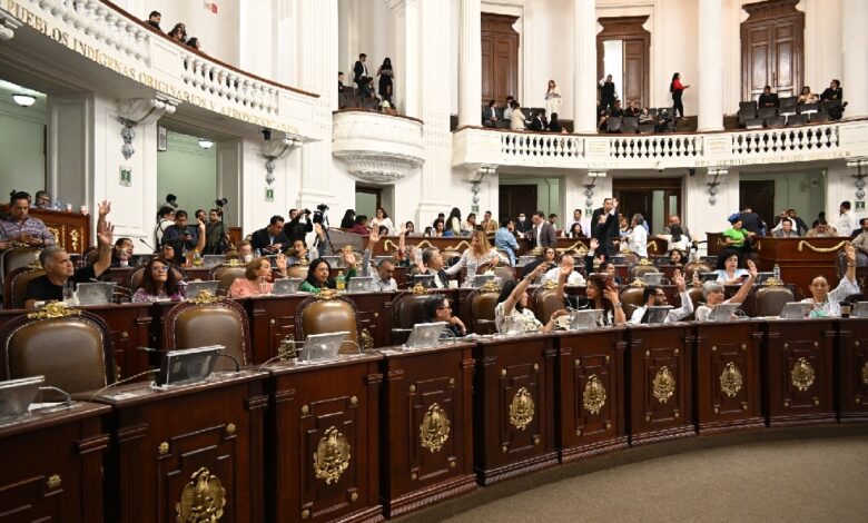
<svg viewBox="0 0 868 523">
<path fill-rule="evenodd" d="M 699 1 L 699 128 L 723 130 L 723 0 Z"/>
</svg>

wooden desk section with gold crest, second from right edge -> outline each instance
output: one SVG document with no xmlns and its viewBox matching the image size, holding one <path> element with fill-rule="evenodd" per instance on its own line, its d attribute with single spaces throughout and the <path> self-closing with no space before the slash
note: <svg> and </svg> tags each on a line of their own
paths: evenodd
<svg viewBox="0 0 868 523">
<path fill-rule="evenodd" d="M 767 319 L 763 409 L 769 426 L 834 423 L 836 319 Z"/>
</svg>

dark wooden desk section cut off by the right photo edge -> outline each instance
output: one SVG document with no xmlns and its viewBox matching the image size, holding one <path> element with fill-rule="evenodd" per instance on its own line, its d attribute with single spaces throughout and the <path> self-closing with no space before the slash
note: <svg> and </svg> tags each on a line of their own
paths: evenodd
<svg viewBox="0 0 868 523">
<path fill-rule="evenodd" d="M 868 319 L 838 320 L 836 378 L 838 420 L 868 421 Z"/>
</svg>

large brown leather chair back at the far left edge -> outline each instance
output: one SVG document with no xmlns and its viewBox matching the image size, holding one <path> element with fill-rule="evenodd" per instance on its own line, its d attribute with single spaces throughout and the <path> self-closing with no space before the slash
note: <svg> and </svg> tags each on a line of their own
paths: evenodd
<svg viewBox="0 0 868 523">
<path fill-rule="evenodd" d="M 47 385 L 69 394 L 100 389 L 115 381 L 110 339 L 99 316 L 51 304 L 12 319 L 0 333 L 3 377 L 42 375 Z"/>
</svg>

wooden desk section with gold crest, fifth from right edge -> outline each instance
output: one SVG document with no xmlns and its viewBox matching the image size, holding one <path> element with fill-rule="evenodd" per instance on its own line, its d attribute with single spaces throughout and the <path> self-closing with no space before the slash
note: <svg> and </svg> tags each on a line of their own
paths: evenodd
<svg viewBox="0 0 868 523">
<path fill-rule="evenodd" d="M 558 334 L 558 448 L 561 461 L 627 448 L 624 329 Z"/>
</svg>

